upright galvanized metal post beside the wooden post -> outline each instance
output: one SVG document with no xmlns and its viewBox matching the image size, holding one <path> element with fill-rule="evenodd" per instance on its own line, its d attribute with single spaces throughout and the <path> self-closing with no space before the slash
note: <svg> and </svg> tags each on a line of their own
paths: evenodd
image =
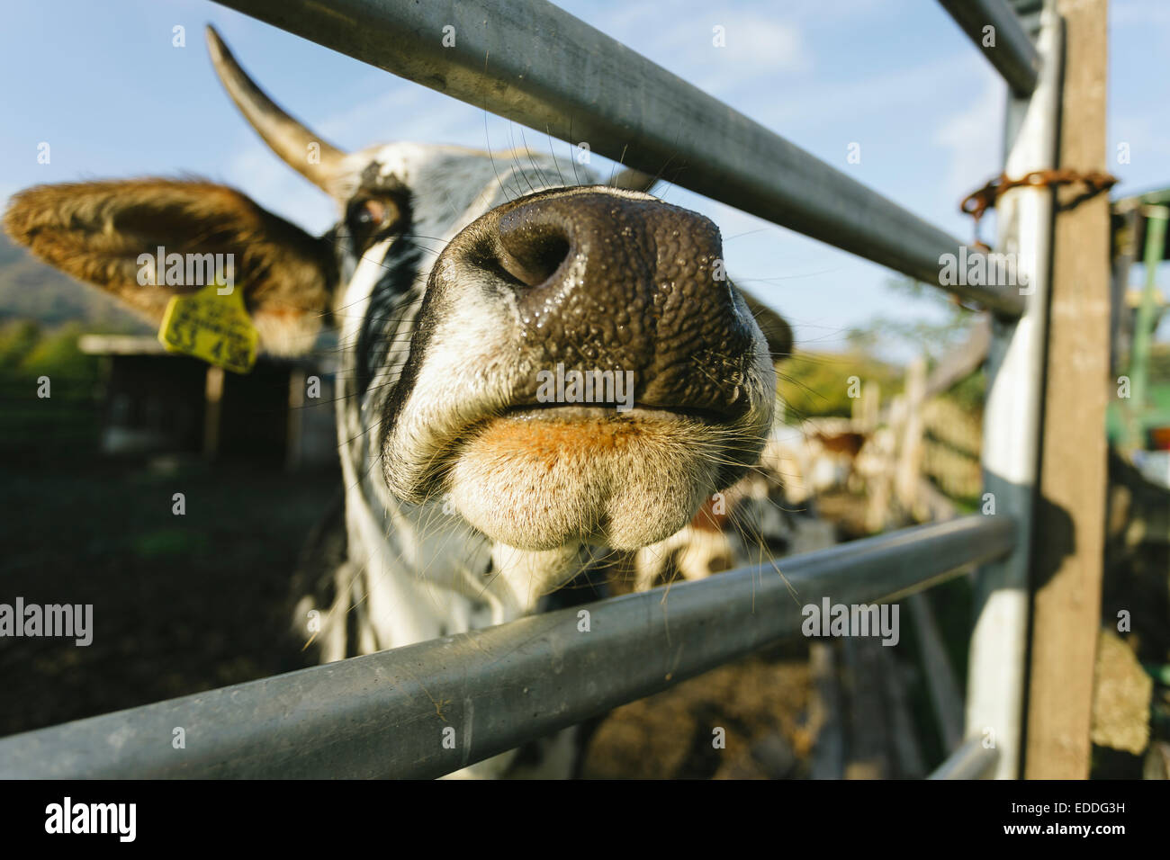
<svg viewBox="0 0 1170 860">
<path fill-rule="evenodd" d="M 1041 67 L 1030 97 L 1007 105 L 1004 170 L 1051 168 L 1055 151 L 1062 57 L 1061 22 L 1051 2 L 1040 15 Z M 998 250 L 1017 255 L 1027 304 L 1016 321 L 996 319 L 984 411 L 984 505 L 1020 524 L 1014 551 L 980 569 L 968 677 L 966 735 L 998 750 L 994 776 L 1019 773 L 1028 624 L 1028 562 L 1041 427 L 1047 329 L 1052 190 L 1020 187 L 998 204 Z"/>
</svg>

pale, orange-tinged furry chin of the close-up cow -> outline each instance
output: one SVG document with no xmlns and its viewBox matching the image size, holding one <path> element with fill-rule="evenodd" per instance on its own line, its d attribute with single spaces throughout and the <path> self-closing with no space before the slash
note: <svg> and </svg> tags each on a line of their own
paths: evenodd
<svg viewBox="0 0 1170 860">
<path fill-rule="evenodd" d="M 472 432 L 449 473 L 459 512 L 494 541 L 633 550 L 683 528 L 741 469 L 736 435 L 673 412 L 559 407 L 509 412 Z M 736 454 L 729 454 L 729 447 Z"/>
</svg>

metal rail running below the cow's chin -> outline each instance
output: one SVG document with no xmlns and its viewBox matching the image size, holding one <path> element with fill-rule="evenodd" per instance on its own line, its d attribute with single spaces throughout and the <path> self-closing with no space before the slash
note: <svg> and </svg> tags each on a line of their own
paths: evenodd
<svg viewBox="0 0 1170 860">
<path fill-rule="evenodd" d="M 806 605 L 895 600 L 1014 543 L 969 516 L 80 720 L 0 739 L 0 778 L 436 777 L 798 637 Z"/>
</svg>

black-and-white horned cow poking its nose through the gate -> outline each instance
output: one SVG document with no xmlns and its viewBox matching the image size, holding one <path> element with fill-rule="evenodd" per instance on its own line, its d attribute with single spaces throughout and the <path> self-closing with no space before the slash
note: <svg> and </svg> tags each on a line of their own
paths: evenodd
<svg viewBox="0 0 1170 860">
<path fill-rule="evenodd" d="M 234 188 L 146 178 L 26 190 L 5 228 L 156 325 L 192 290 L 143 283 L 139 256 L 165 248 L 232 255 L 270 353 L 336 332 L 344 512 L 332 569 L 298 606 L 322 661 L 534 612 L 752 467 L 791 331 L 722 276 L 711 221 L 645 174 L 606 183 L 552 154 L 344 152 L 207 40 L 250 125 L 336 201 L 335 227 L 314 236 Z M 542 397 L 553 372 L 631 379 L 628 403 Z"/>
</svg>

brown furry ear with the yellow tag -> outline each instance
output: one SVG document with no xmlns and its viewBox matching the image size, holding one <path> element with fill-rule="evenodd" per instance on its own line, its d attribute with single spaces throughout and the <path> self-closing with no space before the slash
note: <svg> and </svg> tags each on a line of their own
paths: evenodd
<svg viewBox="0 0 1170 860">
<path fill-rule="evenodd" d="M 172 295 L 204 282 L 170 278 L 171 285 L 154 285 L 168 280 L 154 263 L 160 249 L 164 263 L 180 254 L 195 261 L 197 271 L 204 255 L 232 255 L 219 261 L 230 261 L 234 285 L 243 290 L 270 352 L 310 349 L 330 308 L 329 242 L 223 185 L 168 179 L 39 185 L 12 198 L 4 226 L 36 256 L 117 296 L 156 325 Z"/>
</svg>

